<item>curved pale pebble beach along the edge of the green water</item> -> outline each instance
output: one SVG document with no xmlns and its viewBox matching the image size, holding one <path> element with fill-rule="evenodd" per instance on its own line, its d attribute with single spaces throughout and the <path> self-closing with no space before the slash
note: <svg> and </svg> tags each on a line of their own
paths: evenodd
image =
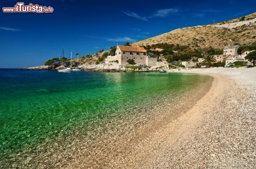
<svg viewBox="0 0 256 169">
<path fill-rule="evenodd" d="M 81 153 L 63 167 L 256 168 L 256 68 L 189 71 L 214 77 L 206 95 L 198 101 L 183 98 L 175 107 L 167 104 L 165 113 L 180 110 L 177 116 L 148 128 L 136 126 L 103 150 Z"/>
</svg>

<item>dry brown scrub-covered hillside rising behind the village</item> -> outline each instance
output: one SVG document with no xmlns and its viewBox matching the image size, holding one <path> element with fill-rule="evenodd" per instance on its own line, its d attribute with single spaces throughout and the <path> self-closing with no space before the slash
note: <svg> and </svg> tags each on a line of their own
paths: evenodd
<svg viewBox="0 0 256 169">
<path fill-rule="evenodd" d="M 156 43 L 174 43 L 189 45 L 192 48 L 212 46 L 223 49 L 225 46 L 240 43 L 245 45 L 255 42 L 256 39 L 256 12 L 241 18 L 221 23 L 180 28 L 149 39 L 132 43 L 132 46 L 146 46 Z"/>
</svg>

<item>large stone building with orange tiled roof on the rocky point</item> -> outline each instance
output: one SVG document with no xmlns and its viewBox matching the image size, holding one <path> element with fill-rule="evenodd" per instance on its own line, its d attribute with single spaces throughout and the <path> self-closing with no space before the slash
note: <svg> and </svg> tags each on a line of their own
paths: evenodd
<svg viewBox="0 0 256 169">
<path fill-rule="evenodd" d="M 121 46 L 117 44 L 116 55 L 108 56 L 105 63 L 111 63 L 118 60 L 119 65 L 128 64 L 127 60 L 133 59 L 135 64 L 146 64 L 147 66 L 156 66 L 157 58 L 147 56 L 143 47 L 138 46 Z"/>
</svg>

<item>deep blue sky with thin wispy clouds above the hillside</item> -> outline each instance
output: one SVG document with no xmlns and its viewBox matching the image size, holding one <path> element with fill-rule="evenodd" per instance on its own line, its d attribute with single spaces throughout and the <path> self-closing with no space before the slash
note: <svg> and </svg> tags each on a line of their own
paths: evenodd
<svg viewBox="0 0 256 169">
<path fill-rule="evenodd" d="M 0 6 L 50 6 L 52 13 L 0 11 L 0 68 L 43 65 L 72 51 L 81 56 L 160 35 L 256 12 L 253 0 L 79 1 L 1 0 Z"/>
</svg>

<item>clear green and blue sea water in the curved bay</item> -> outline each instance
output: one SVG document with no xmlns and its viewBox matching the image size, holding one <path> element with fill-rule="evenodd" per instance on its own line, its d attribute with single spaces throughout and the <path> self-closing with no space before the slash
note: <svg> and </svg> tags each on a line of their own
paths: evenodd
<svg viewBox="0 0 256 169">
<path fill-rule="evenodd" d="M 212 77 L 0 69 L 0 80 L 0 167 L 15 168 L 43 156 L 49 144 L 58 150 L 78 135 L 86 141 L 97 139 L 107 130 L 105 122 L 114 121 L 110 125 L 115 128 L 133 123 L 137 116 L 150 119 L 143 115 L 146 110 L 203 87 Z M 24 162 L 28 157 L 32 160 Z"/>
</svg>

